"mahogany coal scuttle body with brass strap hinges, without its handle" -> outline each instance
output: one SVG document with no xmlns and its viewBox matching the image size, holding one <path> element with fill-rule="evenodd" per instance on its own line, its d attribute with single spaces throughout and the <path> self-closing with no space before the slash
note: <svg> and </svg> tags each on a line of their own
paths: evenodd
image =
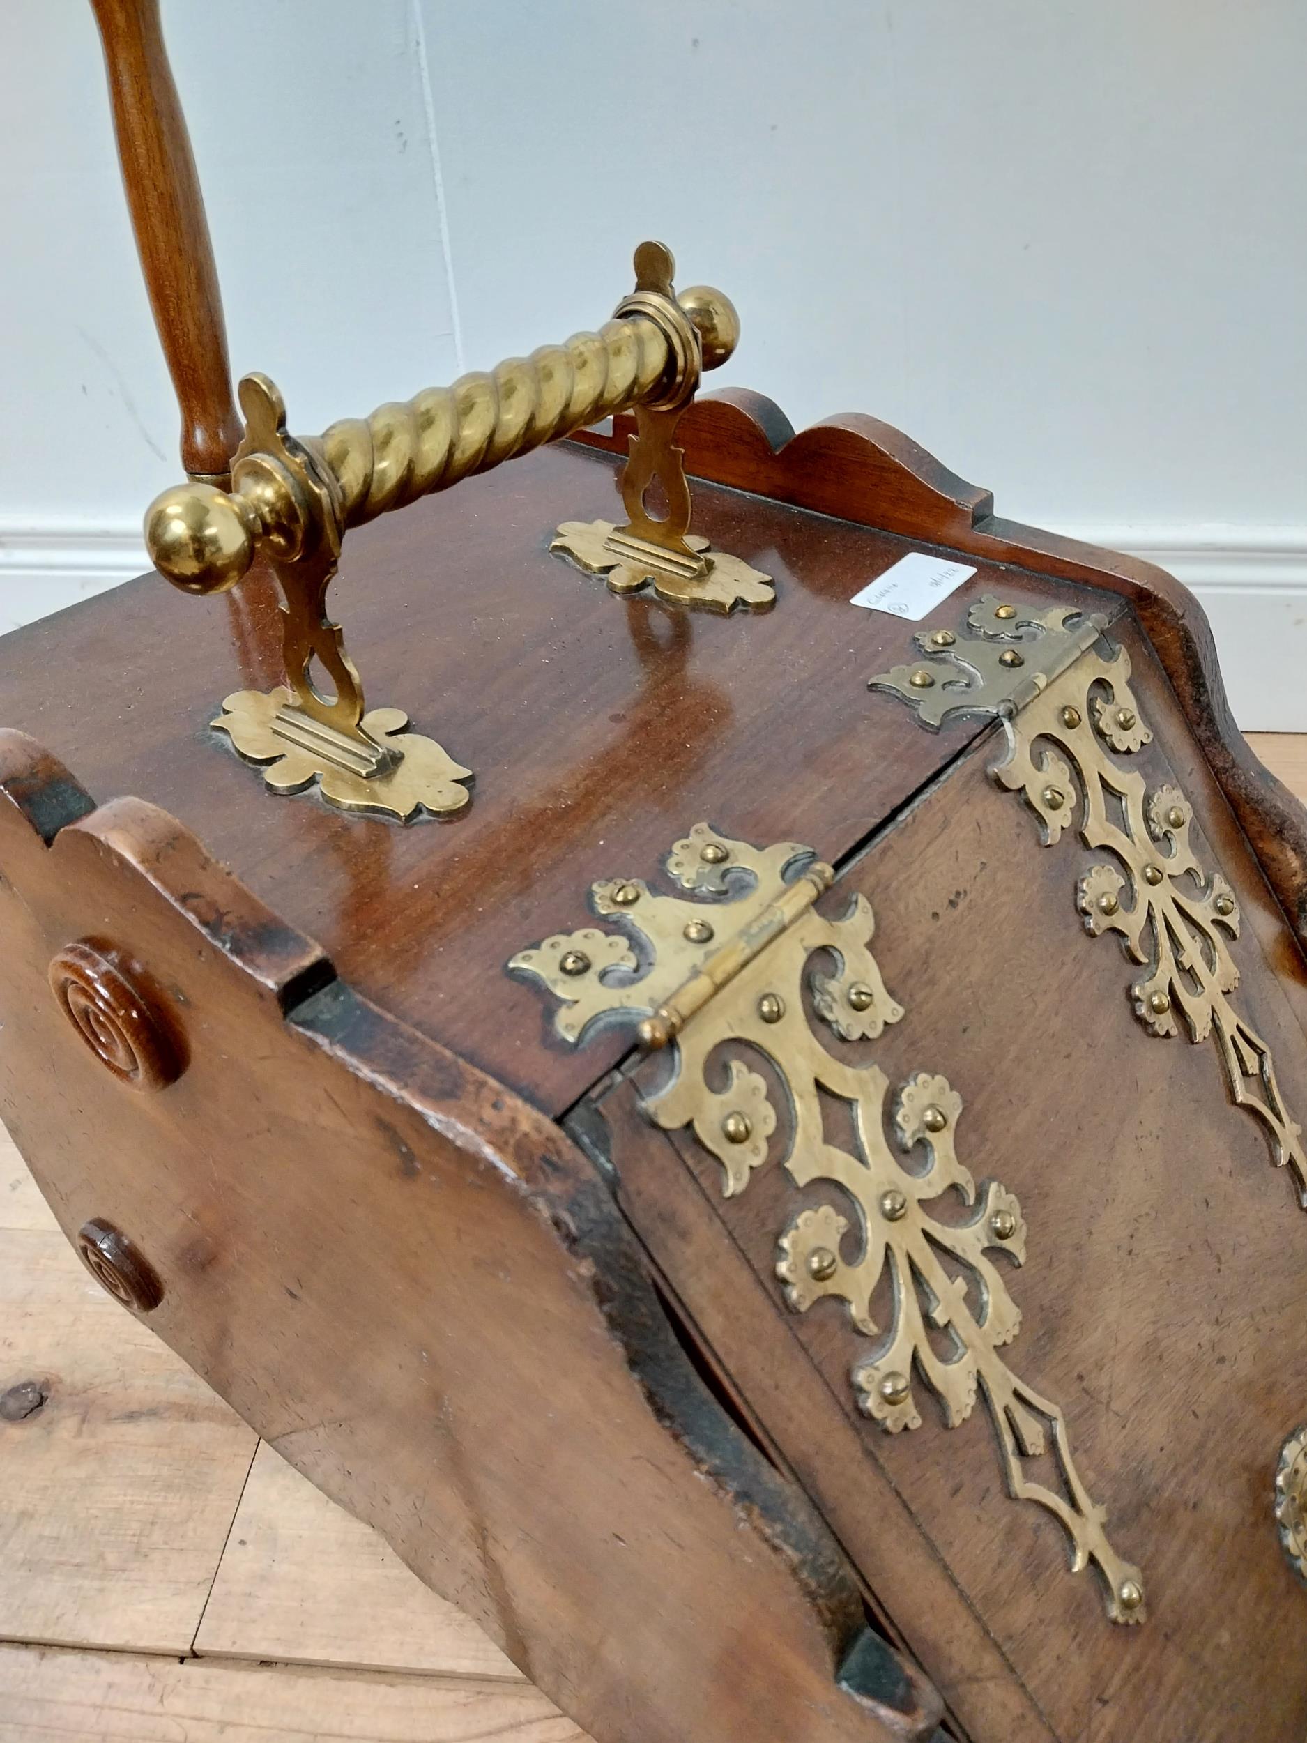
<svg viewBox="0 0 1307 1743">
<path fill-rule="evenodd" d="M 448 823 L 211 730 L 277 682 L 270 582 L 5 641 L 0 1114 L 129 1311 L 599 1743 L 1302 1743 L 1307 819 L 1197 607 L 730 394 L 695 528 L 775 608 L 619 600 L 549 535 L 612 516 L 620 425 L 345 547 L 375 694 L 476 769 Z M 849 603 L 913 549 L 974 575 Z M 1039 682 L 931 730 L 979 647 Z"/>
</svg>

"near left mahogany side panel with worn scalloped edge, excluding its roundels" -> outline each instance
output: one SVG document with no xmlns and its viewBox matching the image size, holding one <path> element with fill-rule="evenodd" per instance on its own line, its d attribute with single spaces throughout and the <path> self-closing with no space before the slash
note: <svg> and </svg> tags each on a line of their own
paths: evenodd
<svg viewBox="0 0 1307 1743">
<path fill-rule="evenodd" d="M 354 994 L 173 817 L 89 809 L 16 734 L 0 865 L 3 1119 L 70 1238 L 136 1241 L 146 1323 L 265 1440 L 603 1743 L 934 1731 L 556 1126 Z M 152 988 L 174 1082 L 122 1082 L 66 1020 L 44 969 L 77 939 Z"/>
</svg>

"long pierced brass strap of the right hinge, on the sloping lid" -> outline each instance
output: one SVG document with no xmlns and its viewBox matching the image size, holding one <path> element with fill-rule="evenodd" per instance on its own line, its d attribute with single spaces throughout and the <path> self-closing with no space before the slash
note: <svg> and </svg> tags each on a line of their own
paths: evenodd
<svg viewBox="0 0 1307 1743">
<path fill-rule="evenodd" d="M 972 607 L 971 627 L 981 636 L 1006 636 L 1009 645 L 1025 624 L 1068 615 L 1056 608 L 1002 619 L 993 603 Z M 1239 987 L 1230 955 L 1239 903 L 1222 873 L 1208 873 L 1199 863 L 1188 838 L 1194 810 L 1180 788 L 1166 783 L 1150 791 L 1138 769 L 1108 755 L 1134 756 L 1152 743 L 1152 732 L 1129 687 L 1129 654 L 1103 647 L 1108 652 L 1082 652 L 1019 713 L 1006 715 L 1007 751 L 993 777 L 1021 793 L 1046 847 L 1079 824 L 1086 847 L 1112 856 L 1077 880 L 1084 929 L 1091 938 L 1117 933 L 1128 957 L 1143 964 L 1129 995 L 1150 1035 L 1178 1035 L 1183 1023 L 1192 1042 L 1215 1037 L 1230 1098 L 1263 1124 L 1276 1166 L 1290 1170 L 1307 1208 L 1302 1128 L 1279 1093 L 1270 1049 L 1230 1002 Z M 957 648 L 967 659 L 976 643 L 958 641 Z M 913 701 L 891 676 L 873 678 L 871 687 Z"/>
</svg>

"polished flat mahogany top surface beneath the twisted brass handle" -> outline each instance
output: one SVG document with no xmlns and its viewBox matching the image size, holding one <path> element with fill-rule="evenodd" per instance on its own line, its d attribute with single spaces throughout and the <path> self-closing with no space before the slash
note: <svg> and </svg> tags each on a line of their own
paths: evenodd
<svg viewBox="0 0 1307 1743">
<path fill-rule="evenodd" d="M 701 817 L 836 859 L 978 730 L 908 730 L 866 688 L 908 655 L 911 626 L 849 598 L 920 540 L 704 485 L 697 525 L 775 573 L 779 603 L 685 615 L 549 554 L 558 521 L 617 511 L 613 460 L 563 444 L 345 540 L 333 607 L 369 701 L 408 708 L 476 770 L 448 823 L 399 830 L 275 797 L 209 730 L 223 695 L 275 659 L 261 582 L 239 589 L 239 633 L 223 600 L 159 579 L 17 631 L 0 645 L 0 725 L 96 791 L 162 805 L 361 994 L 558 1114 L 620 1039 L 586 1058 L 563 1048 L 504 964 L 579 924 L 579 891 L 652 865 Z M 1119 608 L 978 563 L 925 626 L 993 589 Z"/>
</svg>

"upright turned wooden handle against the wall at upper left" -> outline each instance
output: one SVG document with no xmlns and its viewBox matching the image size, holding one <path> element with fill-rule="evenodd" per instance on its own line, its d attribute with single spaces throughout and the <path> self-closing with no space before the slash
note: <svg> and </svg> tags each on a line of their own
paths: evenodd
<svg viewBox="0 0 1307 1743">
<path fill-rule="evenodd" d="M 159 0 L 91 0 L 136 248 L 181 408 L 181 464 L 225 483 L 240 441 L 204 200 L 164 51 Z"/>
</svg>

